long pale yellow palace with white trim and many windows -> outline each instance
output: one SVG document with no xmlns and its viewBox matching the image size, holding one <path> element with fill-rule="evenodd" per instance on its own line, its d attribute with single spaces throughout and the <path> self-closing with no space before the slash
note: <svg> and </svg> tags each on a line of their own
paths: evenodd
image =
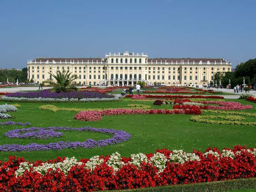
<svg viewBox="0 0 256 192">
<path fill-rule="evenodd" d="M 223 58 L 149 58 L 148 54 L 106 54 L 105 58 L 36 58 L 27 62 L 28 79 L 35 83 L 52 80 L 52 74 L 69 71 L 79 85 L 207 84 L 216 72 L 231 71 Z"/>
</svg>

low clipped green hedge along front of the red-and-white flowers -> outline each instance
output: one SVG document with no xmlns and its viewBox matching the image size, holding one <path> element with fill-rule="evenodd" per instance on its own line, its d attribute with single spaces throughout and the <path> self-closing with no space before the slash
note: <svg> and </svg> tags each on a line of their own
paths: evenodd
<svg viewBox="0 0 256 192">
<path fill-rule="evenodd" d="M 256 177 L 196 184 L 180 184 L 147 187 L 141 189 L 113 190 L 111 192 L 224 192 L 228 190 L 239 189 L 256 189 Z"/>
</svg>

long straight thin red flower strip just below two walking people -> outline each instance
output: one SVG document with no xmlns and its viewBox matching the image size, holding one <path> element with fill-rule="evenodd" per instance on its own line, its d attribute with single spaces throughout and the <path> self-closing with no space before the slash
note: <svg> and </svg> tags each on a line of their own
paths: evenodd
<svg viewBox="0 0 256 192">
<path fill-rule="evenodd" d="M 126 95 L 126 98 L 131 98 L 133 95 Z M 224 99 L 223 96 L 203 96 L 203 95 L 145 95 L 146 98 L 204 98 L 204 99 Z"/>
</svg>

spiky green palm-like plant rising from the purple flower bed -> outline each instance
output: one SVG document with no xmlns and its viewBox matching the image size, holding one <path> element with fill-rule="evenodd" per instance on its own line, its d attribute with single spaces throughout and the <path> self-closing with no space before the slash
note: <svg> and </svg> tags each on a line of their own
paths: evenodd
<svg viewBox="0 0 256 192">
<path fill-rule="evenodd" d="M 57 75 L 49 73 L 52 77 L 56 80 L 54 81 L 47 81 L 51 86 L 53 86 L 53 90 L 55 92 L 68 92 L 68 91 L 77 91 L 77 87 L 72 85 L 72 81 L 77 79 L 77 75 L 71 75 L 69 72 L 60 72 Z"/>
</svg>

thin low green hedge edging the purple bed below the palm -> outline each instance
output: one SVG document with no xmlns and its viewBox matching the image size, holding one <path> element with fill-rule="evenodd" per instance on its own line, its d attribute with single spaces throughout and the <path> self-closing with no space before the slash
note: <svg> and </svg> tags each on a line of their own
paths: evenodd
<svg viewBox="0 0 256 192">
<path fill-rule="evenodd" d="M 122 99 L 117 100 L 109 100 L 109 101 L 27 101 L 27 100 L 21 100 L 21 101 L 15 101 L 15 100 L 8 100 L 8 99 L 1 99 L 2 102 L 12 102 L 12 103 L 39 103 L 39 104 L 54 104 L 54 103 L 83 103 L 83 102 L 115 102 L 115 101 L 122 101 Z"/>
</svg>

